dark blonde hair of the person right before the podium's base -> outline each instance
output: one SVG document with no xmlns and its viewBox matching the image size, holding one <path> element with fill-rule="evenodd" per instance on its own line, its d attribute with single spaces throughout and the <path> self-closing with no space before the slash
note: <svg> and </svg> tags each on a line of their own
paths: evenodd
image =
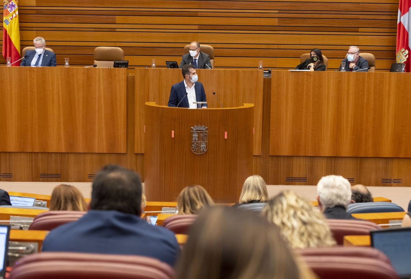
<svg viewBox="0 0 411 279">
<path fill-rule="evenodd" d="M 178 214 L 197 214 L 206 206 L 214 206 L 207 191 L 200 185 L 190 185 L 178 195 Z"/>
</svg>

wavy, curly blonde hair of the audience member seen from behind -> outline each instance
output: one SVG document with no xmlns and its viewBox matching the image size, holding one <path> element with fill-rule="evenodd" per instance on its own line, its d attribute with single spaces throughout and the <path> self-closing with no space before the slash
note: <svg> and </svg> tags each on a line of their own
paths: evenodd
<svg viewBox="0 0 411 279">
<path fill-rule="evenodd" d="M 294 191 L 269 200 L 262 214 L 277 225 L 291 248 L 335 245 L 324 215 Z"/>
</svg>

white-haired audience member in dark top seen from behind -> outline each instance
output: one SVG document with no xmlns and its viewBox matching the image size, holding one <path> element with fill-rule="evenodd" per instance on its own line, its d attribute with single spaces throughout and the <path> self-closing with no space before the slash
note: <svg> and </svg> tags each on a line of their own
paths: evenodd
<svg viewBox="0 0 411 279">
<path fill-rule="evenodd" d="M 322 177 L 317 184 L 317 201 L 328 219 L 357 219 L 346 212 L 351 202 L 351 185 L 342 176 Z"/>
</svg>

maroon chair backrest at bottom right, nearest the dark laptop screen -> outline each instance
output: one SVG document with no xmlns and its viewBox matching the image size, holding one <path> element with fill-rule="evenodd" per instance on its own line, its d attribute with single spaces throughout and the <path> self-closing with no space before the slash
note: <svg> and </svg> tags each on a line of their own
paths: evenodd
<svg viewBox="0 0 411 279">
<path fill-rule="evenodd" d="M 379 259 L 358 256 L 303 256 L 321 279 L 398 279 L 393 266 Z"/>
</svg>

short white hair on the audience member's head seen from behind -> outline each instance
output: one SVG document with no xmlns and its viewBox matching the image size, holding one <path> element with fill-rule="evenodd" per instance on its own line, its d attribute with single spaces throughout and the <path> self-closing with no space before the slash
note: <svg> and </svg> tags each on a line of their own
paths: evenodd
<svg viewBox="0 0 411 279">
<path fill-rule="evenodd" d="M 351 202 L 351 184 L 340 175 L 327 175 L 318 181 L 317 195 L 324 209 L 334 206 L 346 208 Z"/>
</svg>

